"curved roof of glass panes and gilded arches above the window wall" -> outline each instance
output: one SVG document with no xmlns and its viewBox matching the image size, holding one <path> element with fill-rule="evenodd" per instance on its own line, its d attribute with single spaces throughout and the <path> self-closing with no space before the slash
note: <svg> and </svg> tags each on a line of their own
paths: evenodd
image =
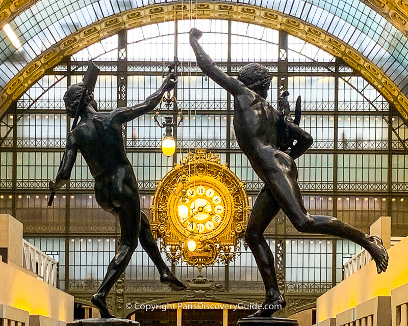
<svg viewBox="0 0 408 326">
<path fill-rule="evenodd" d="M 22 45 L 17 50 L 4 31 L 0 32 L 0 115 L 63 56 L 119 29 L 186 19 L 190 15 L 250 21 L 300 37 L 361 71 L 407 117 L 408 38 L 401 27 L 404 24 L 401 22 L 397 28 L 384 14 L 385 7 L 399 8 L 398 12 L 388 10 L 388 16 L 394 20 L 398 14 L 405 17 L 402 11 L 405 2 L 399 1 L 394 7 L 387 3 L 380 14 L 377 11 L 381 6 L 375 7 L 369 1 L 365 1 L 367 4 L 359 0 L 5 2 L 2 6 L 9 3 L 9 10 L 0 11 L 0 21 L 9 22 Z M 405 9 L 408 12 L 408 6 Z"/>
</svg>

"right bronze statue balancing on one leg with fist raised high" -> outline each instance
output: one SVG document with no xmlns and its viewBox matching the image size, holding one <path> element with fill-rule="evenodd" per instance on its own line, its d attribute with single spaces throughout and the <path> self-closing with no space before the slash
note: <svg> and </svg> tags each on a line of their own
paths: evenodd
<svg viewBox="0 0 408 326">
<path fill-rule="evenodd" d="M 312 137 L 294 122 L 286 119 L 285 99 L 277 111 L 266 101 L 270 85 L 268 70 L 250 63 L 238 73 L 238 80 L 222 72 L 198 43 L 202 33 L 190 31 L 190 44 L 198 66 L 218 85 L 234 96 L 234 130 L 238 144 L 252 168 L 265 182 L 248 221 L 245 240 L 257 262 L 265 284 L 263 308 L 250 317 L 270 317 L 277 308 L 286 306 L 279 292 L 273 256 L 263 233 L 277 212 L 282 209 L 300 232 L 322 233 L 345 238 L 360 244 L 373 257 L 378 273 L 388 266 L 388 254 L 382 240 L 370 236 L 332 216 L 311 215 L 303 206 L 297 184 L 294 159 L 312 144 Z M 300 102 L 299 102 L 300 106 Z M 296 120 L 296 118 L 295 118 Z M 296 144 L 294 145 L 294 140 Z M 289 154 L 282 150 L 290 148 Z"/>
</svg>

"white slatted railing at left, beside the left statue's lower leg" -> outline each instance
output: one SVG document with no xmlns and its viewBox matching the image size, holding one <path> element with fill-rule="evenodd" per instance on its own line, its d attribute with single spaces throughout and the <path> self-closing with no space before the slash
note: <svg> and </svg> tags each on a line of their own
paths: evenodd
<svg viewBox="0 0 408 326">
<path fill-rule="evenodd" d="M 58 263 L 53 258 L 34 247 L 30 242 L 23 242 L 23 262 L 22 266 L 37 274 L 37 279 L 43 280 L 46 284 L 57 287 Z"/>
</svg>

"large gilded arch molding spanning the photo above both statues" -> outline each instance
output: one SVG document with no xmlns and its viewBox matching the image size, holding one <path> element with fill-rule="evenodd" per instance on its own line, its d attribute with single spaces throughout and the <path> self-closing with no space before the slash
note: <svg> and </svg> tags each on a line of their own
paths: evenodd
<svg viewBox="0 0 408 326">
<path fill-rule="evenodd" d="M 46 69 L 56 66 L 64 57 L 71 56 L 75 52 L 103 38 L 114 35 L 122 29 L 132 29 L 151 23 L 190 18 L 231 19 L 286 31 L 322 48 L 333 56 L 342 58 L 350 67 L 360 71 L 369 83 L 390 102 L 394 103 L 402 116 L 408 118 L 408 98 L 401 93 L 380 68 L 340 39 L 316 28 L 312 24 L 274 10 L 236 3 L 217 2 L 167 3 L 146 6 L 99 20 L 69 35 L 42 52 L 4 87 L 4 90 L 0 93 L 0 116 L 5 113 L 13 100 L 19 98 L 25 90 L 44 75 Z"/>
</svg>

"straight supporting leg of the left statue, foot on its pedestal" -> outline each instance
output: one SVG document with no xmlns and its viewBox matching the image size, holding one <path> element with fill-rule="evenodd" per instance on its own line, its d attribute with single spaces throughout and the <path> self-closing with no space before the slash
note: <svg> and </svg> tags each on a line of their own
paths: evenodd
<svg viewBox="0 0 408 326">
<path fill-rule="evenodd" d="M 125 270 L 138 242 L 140 231 L 139 196 L 123 200 L 123 203 L 124 204 L 117 209 L 121 229 L 119 250 L 109 263 L 108 270 L 98 291 L 91 298 L 91 302 L 99 309 L 102 318 L 114 317 L 108 310 L 106 297 Z"/>
</svg>

